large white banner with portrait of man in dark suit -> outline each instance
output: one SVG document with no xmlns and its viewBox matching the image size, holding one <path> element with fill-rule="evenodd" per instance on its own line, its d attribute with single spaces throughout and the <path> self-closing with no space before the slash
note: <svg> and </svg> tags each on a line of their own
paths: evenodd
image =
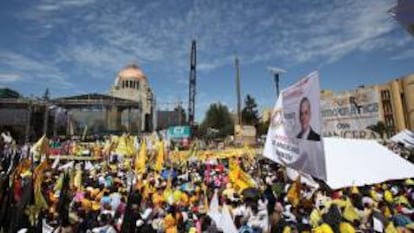
<svg viewBox="0 0 414 233">
<path fill-rule="evenodd" d="M 264 156 L 326 180 L 319 73 L 313 72 L 282 90 L 271 117 Z"/>
</svg>

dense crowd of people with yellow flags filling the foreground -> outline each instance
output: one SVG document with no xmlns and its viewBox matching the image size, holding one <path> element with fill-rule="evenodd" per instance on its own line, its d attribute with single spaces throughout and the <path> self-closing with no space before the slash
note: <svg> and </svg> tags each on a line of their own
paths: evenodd
<svg viewBox="0 0 414 233">
<path fill-rule="evenodd" d="M 141 149 L 146 144 L 141 142 Z M 137 148 L 138 151 L 140 148 Z M 260 155 L 184 161 L 165 148 L 136 157 L 63 161 L 5 143 L 0 155 L 0 232 L 410 232 L 414 181 L 331 190 Z M 302 182 L 301 182 L 302 181 Z"/>
</svg>

